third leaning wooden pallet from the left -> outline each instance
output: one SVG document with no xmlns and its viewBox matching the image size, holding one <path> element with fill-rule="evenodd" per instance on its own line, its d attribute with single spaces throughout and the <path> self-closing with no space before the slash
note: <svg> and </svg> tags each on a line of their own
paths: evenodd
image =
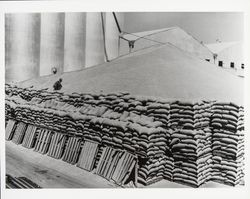
<svg viewBox="0 0 250 199">
<path fill-rule="evenodd" d="M 22 146 L 28 149 L 31 149 L 35 145 L 35 138 L 36 138 L 36 132 L 37 132 L 37 127 L 34 125 L 28 125 L 26 129 L 25 136 L 23 138 L 23 143 Z"/>
</svg>

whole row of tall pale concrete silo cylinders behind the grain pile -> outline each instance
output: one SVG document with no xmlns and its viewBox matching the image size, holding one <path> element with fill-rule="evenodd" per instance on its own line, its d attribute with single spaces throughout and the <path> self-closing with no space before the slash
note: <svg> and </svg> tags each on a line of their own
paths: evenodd
<svg viewBox="0 0 250 199">
<path fill-rule="evenodd" d="M 122 24 L 122 14 L 118 14 Z M 118 30 L 112 13 L 6 14 L 6 80 L 81 70 L 118 56 Z M 102 22 L 103 21 L 103 22 Z M 104 27 L 104 30 L 103 30 Z"/>
</svg>

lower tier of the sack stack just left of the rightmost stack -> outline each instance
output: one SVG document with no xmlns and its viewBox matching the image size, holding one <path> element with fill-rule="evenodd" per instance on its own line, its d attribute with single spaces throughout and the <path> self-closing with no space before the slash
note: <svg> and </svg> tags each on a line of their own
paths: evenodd
<svg viewBox="0 0 250 199">
<path fill-rule="evenodd" d="M 174 158 L 173 181 L 199 187 L 210 180 L 211 130 L 173 132 L 170 143 Z M 210 141 L 209 141 L 210 140 Z"/>
</svg>

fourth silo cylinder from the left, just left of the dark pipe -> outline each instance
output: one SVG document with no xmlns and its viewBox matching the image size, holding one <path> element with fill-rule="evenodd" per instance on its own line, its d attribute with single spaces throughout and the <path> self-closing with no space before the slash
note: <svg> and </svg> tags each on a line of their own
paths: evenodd
<svg viewBox="0 0 250 199">
<path fill-rule="evenodd" d="M 102 20 L 100 12 L 88 12 L 86 21 L 85 67 L 105 62 Z"/>
</svg>

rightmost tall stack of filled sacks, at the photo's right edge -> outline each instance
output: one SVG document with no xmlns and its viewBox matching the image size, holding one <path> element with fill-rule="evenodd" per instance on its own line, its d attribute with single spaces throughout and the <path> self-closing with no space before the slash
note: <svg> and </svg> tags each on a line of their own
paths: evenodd
<svg viewBox="0 0 250 199">
<path fill-rule="evenodd" d="M 213 180 L 235 186 L 244 176 L 243 108 L 215 103 L 213 126 Z"/>
</svg>

